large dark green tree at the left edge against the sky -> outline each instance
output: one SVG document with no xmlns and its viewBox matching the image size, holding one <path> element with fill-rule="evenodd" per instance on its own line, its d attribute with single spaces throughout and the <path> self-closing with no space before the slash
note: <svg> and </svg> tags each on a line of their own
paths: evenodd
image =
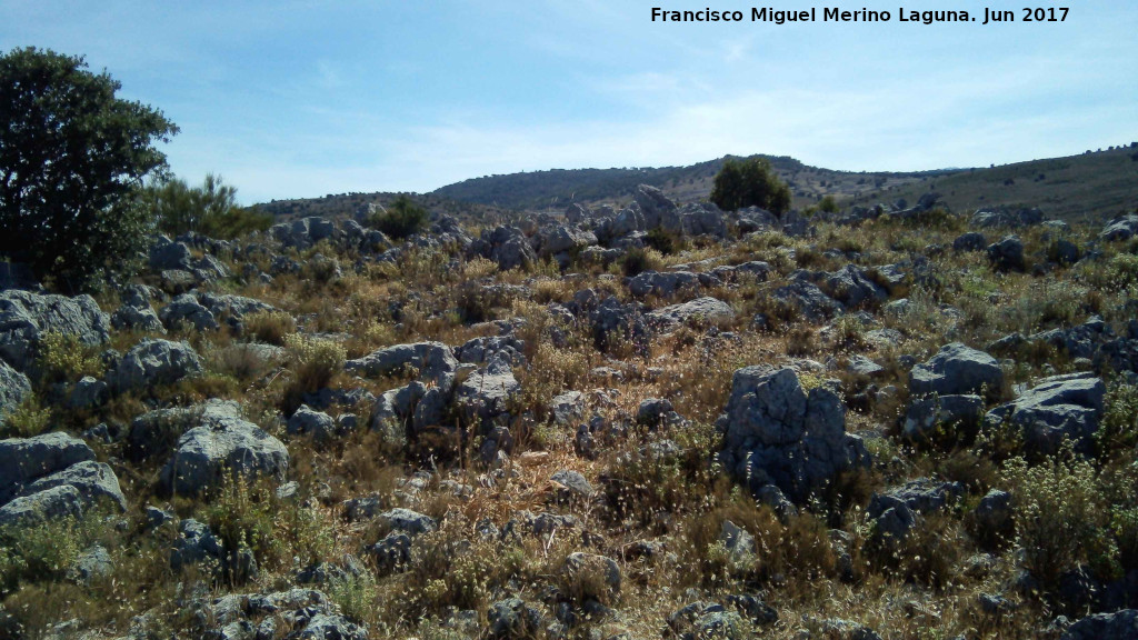
<svg viewBox="0 0 1138 640">
<path fill-rule="evenodd" d="M 0 254 L 67 289 L 129 274 L 150 211 L 142 180 L 166 169 L 154 143 L 178 128 L 82 57 L 35 48 L 0 56 Z"/>
</svg>

